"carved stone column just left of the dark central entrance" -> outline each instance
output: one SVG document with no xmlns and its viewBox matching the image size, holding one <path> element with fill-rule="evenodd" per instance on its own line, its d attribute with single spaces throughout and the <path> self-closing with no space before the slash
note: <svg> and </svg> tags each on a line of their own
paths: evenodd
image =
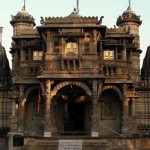
<svg viewBox="0 0 150 150">
<path fill-rule="evenodd" d="M 52 118 L 52 111 L 51 111 L 51 100 L 53 97 L 51 91 L 51 85 L 54 82 L 51 80 L 47 80 L 45 83 L 45 122 L 44 122 L 44 137 L 51 137 L 53 132 L 53 118 Z"/>
</svg>

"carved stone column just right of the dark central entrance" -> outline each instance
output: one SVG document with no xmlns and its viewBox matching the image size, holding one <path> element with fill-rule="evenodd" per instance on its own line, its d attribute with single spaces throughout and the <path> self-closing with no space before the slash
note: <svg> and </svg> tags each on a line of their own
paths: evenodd
<svg viewBox="0 0 150 150">
<path fill-rule="evenodd" d="M 98 80 L 93 81 L 93 91 L 92 91 L 92 116 L 91 116 L 91 135 L 92 137 L 99 136 L 99 115 L 98 115 L 98 100 L 101 93 L 102 82 Z"/>
</svg>

